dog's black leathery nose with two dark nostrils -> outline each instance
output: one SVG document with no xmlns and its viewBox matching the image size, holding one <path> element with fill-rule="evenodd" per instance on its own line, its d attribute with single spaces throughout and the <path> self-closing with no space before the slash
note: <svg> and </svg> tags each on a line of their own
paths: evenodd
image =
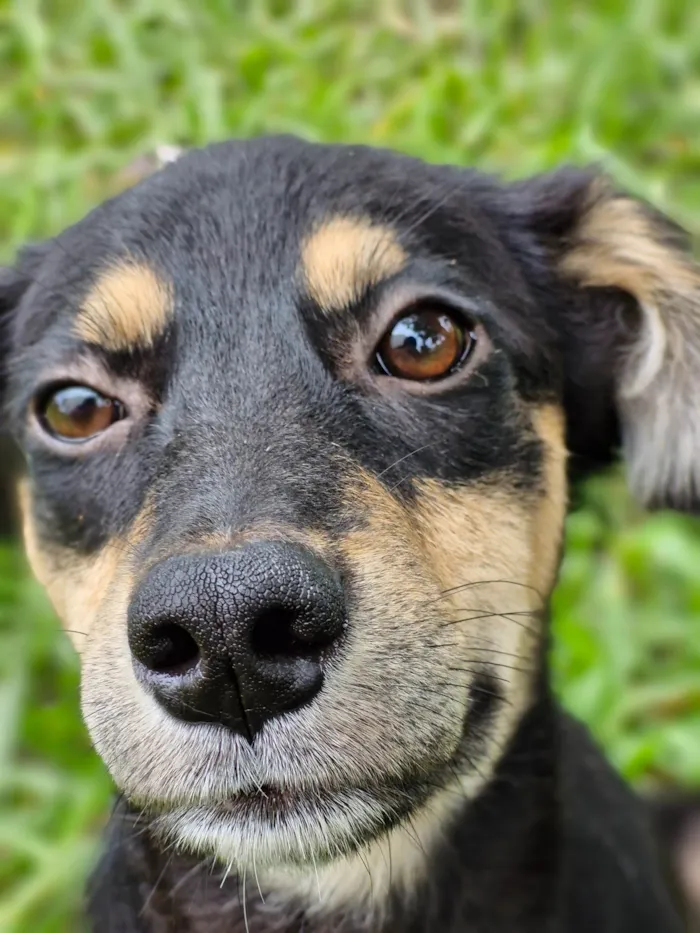
<svg viewBox="0 0 700 933">
<path fill-rule="evenodd" d="M 141 681 L 174 716 L 252 741 L 308 703 L 345 625 L 338 577 L 309 551 L 256 542 L 157 564 L 129 607 Z"/>
</svg>

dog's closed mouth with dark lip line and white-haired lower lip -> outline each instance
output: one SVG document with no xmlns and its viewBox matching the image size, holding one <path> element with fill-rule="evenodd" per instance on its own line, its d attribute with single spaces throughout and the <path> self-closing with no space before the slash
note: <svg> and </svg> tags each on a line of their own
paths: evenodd
<svg viewBox="0 0 700 933">
<path fill-rule="evenodd" d="M 424 761 L 401 776 L 385 774 L 364 783 L 307 780 L 296 785 L 265 780 L 253 784 L 249 779 L 228 796 L 201 802 L 161 806 L 134 802 L 145 804 L 153 814 L 152 825 L 166 843 L 233 864 L 331 861 L 409 823 L 443 792 L 455 803 L 468 797 L 485 779 L 473 763 L 486 749 L 484 727 L 497 701 L 495 690 L 475 692 L 465 714 L 462 742 L 445 758 L 427 767 Z"/>
</svg>

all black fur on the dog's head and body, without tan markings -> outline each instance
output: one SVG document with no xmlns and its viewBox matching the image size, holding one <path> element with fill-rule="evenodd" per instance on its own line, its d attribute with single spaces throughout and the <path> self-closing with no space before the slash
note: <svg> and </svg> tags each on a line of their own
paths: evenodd
<svg viewBox="0 0 700 933">
<path fill-rule="evenodd" d="M 577 469 L 609 463 L 619 441 L 613 383 L 636 307 L 613 289 L 575 288 L 556 270 L 592 178 L 566 170 L 504 186 L 362 147 L 225 143 L 25 255 L 0 280 L 6 409 L 28 457 L 42 538 L 95 553 L 129 527 L 147 494 L 155 519 L 144 560 L 259 521 L 333 538 L 362 524 L 359 506 L 348 519 L 340 492 L 358 466 L 406 502 L 426 477 L 460 484 L 502 474 L 526 493 L 542 482 L 541 445 L 522 414 L 537 402 L 563 405 Z M 325 318 L 300 282 L 299 245 L 337 215 L 391 226 L 409 262 Z M 150 351 L 100 358 L 145 385 L 153 409 L 121 456 L 76 462 L 37 440 L 27 411 L 37 373 L 85 352 L 71 329 L 75 309 L 99 271 L 127 255 L 174 283 L 173 322 Z M 497 352 L 479 378 L 439 397 L 363 391 L 342 350 L 383 288 L 415 282 L 470 309 Z M 544 646 L 540 668 L 534 708 L 447 842 L 427 853 L 414 898 L 396 898 L 385 921 L 363 925 L 312 921 L 301 905 L 270 915 L 248 885 L 250 933 L 678 930 L 640 808 L 552 700 Z M 481 714 L 487 721 L 489 710 Z M 93 928 L 242 933 L 241 879 L 221 885 L 219 869 L 159 851 L 148 820 L 126 803 L 115 810 L 91 883 Z"/>
</svg>

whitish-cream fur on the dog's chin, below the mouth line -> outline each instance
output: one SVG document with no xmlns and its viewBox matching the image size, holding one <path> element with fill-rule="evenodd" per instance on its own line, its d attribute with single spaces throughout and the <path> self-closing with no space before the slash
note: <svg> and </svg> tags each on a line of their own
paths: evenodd
<svg viewBox="0 0 700 933">
<path fill-rule="evenodd" d="M 477 783 L 478 778 L 455 780 L 388 832 L 379 830 L 384 808 L 360 790 L 323 806 L 310 801 L 274 823 L 191 807 L 158 817 L 155 828 L 190 852 L 213 855 L 226 874 L 261 888 L 268 905 L 294 902 L 312 914 L 381 913 L 390 891 L 415 891 L 430 850 L 477 792 Z M 358 837 L 378 831 L 356 847 Z"/>
</svg>

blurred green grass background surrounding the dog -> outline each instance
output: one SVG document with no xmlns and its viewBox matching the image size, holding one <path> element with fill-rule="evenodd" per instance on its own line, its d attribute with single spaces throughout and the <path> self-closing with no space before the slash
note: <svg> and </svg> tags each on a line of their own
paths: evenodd
<svg viewBox="0 0 700 933">
<path fill-rule="evenodd" d="M 562 161 L 700 231 L 696 0 L 0 0 L 0 258 L 161 143 L 293 132 L 508 176 Z M 590 483 L 554 600 L 557 682 L 639 783 L 700 786 L 700 526 Z M 76 661 L 0 550 L 0 931 L 75 933 L 111 794 Z"/>
</svg>

